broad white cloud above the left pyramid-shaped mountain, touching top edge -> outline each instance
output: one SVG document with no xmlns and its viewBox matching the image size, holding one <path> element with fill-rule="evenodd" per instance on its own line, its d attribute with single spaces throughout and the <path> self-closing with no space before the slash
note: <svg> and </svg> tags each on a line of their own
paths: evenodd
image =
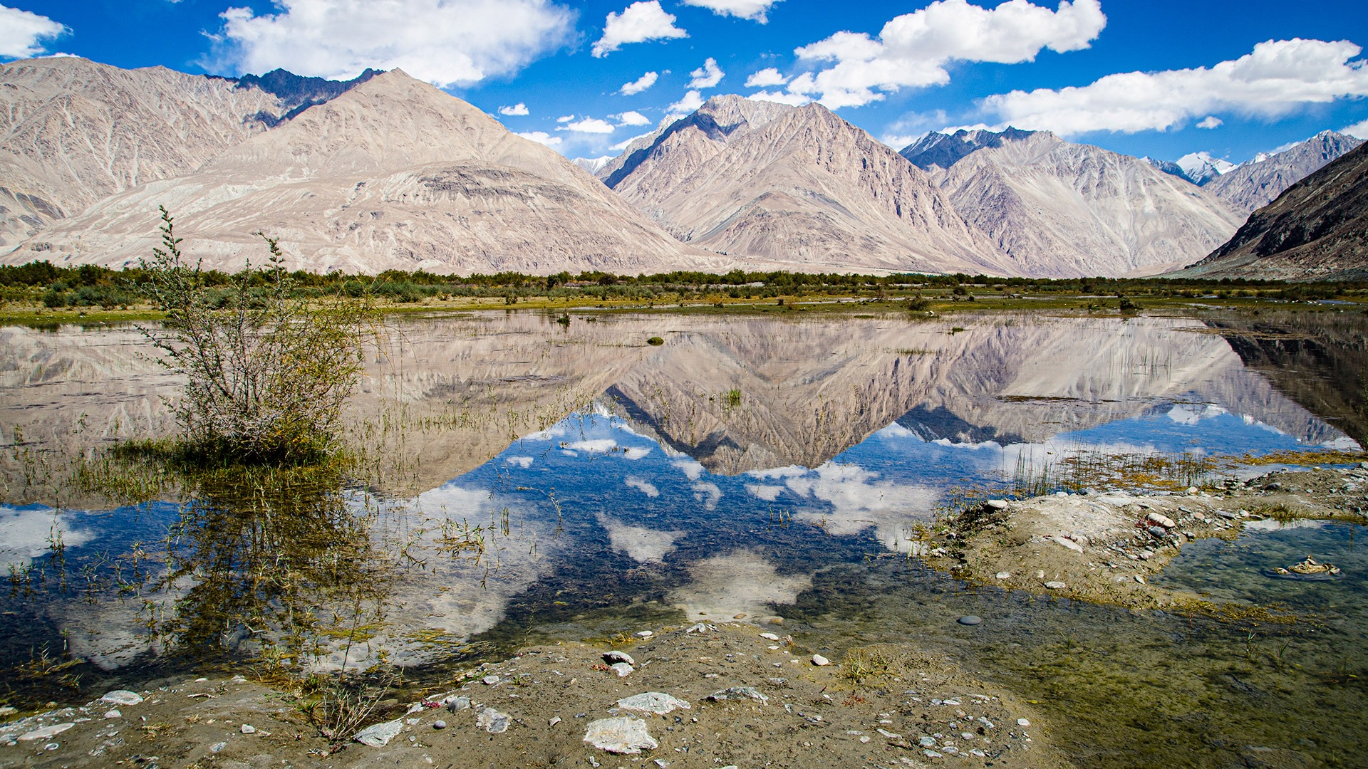
<svg viewBox="0 0 1368 769">
<path fill-rule="evenodd" d="M 285 67 L 352 78 L 402 68 L 439 86 L 517 71 L 575 31 L 575 11 L 550 0 L 275 0 L 276 12 L 228 8 L 216 37 L 245 73 Z"/>
</svg>

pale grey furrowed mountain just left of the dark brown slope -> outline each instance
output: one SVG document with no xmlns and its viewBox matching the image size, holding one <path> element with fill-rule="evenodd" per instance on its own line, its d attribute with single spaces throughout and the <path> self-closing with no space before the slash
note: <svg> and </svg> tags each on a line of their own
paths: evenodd
<svg viewBox="0 0 1368 769">
<path fill-rule="evenodd" d="M 975 133 L 979 148 L 940 185 L 1015 275 L 1156 274 L 1209 253 L 1239 224 L 1213 196 L 1138 157 L 1049 131 Z"/>
</svg>

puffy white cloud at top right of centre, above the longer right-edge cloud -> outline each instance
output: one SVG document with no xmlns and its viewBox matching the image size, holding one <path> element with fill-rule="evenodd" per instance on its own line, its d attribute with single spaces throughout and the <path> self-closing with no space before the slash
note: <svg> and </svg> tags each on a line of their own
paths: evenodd
<svg viewBox="0 0 1368 769">
<path fill-rule="evenodd" d="M 949 62 L 1030 62 L 1041 49 L 1088 48 L 1107 25 L 1099 0 L 1063 1 L 1056 11 L 1027 0 L 979 8 L 966 0 L 938 0 L 884 25 L 878 38 L 839 31 L 793 51 L 833 66 L 789 82 L 791 93 L 817 96 L 830 108 L 858 107 L 899 88 L 945 85 Z"/>
</svg>

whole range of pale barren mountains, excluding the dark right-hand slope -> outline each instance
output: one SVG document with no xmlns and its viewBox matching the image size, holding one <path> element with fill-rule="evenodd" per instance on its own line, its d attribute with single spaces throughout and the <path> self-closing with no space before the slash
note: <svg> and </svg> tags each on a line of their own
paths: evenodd
<svg viewBox="0 0 1368 769">
<path fill-rule="evenodd" d="M 1007 129 L 895 152 L 819 104 L 720 96 L 617 157 L 570 161 L 398 70 L 220 78 L 77 57 L 0 66 L 0 105 L 10 264 L 135 264 L 166 205 L 224 270 L 260 259 L 267 233 L 293 267 L 363 274 L 1148 275 L 1213 252 L 1360 144 L 1326 131 L 1230 167 Z"/>
</svg>

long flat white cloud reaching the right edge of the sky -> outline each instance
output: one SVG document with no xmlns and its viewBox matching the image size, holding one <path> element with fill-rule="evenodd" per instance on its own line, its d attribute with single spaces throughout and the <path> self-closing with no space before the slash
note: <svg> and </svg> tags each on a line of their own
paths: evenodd
<svg viewBox="0 0 1368 769">
<path fill-rule="evenodd" d="M 1368 66 L 1350 62 L 1360 52 L 1347 40 L 1268 40 L 1212 67 L 1120 73 L 1059 90 L 1014 90 L 988 97 L 984 107 L 1019 129 L 1064 135 L 1161 131 L 1220 111 L 1271 118 L 1305 104 L 1368 96 Z"/>
</svg>

